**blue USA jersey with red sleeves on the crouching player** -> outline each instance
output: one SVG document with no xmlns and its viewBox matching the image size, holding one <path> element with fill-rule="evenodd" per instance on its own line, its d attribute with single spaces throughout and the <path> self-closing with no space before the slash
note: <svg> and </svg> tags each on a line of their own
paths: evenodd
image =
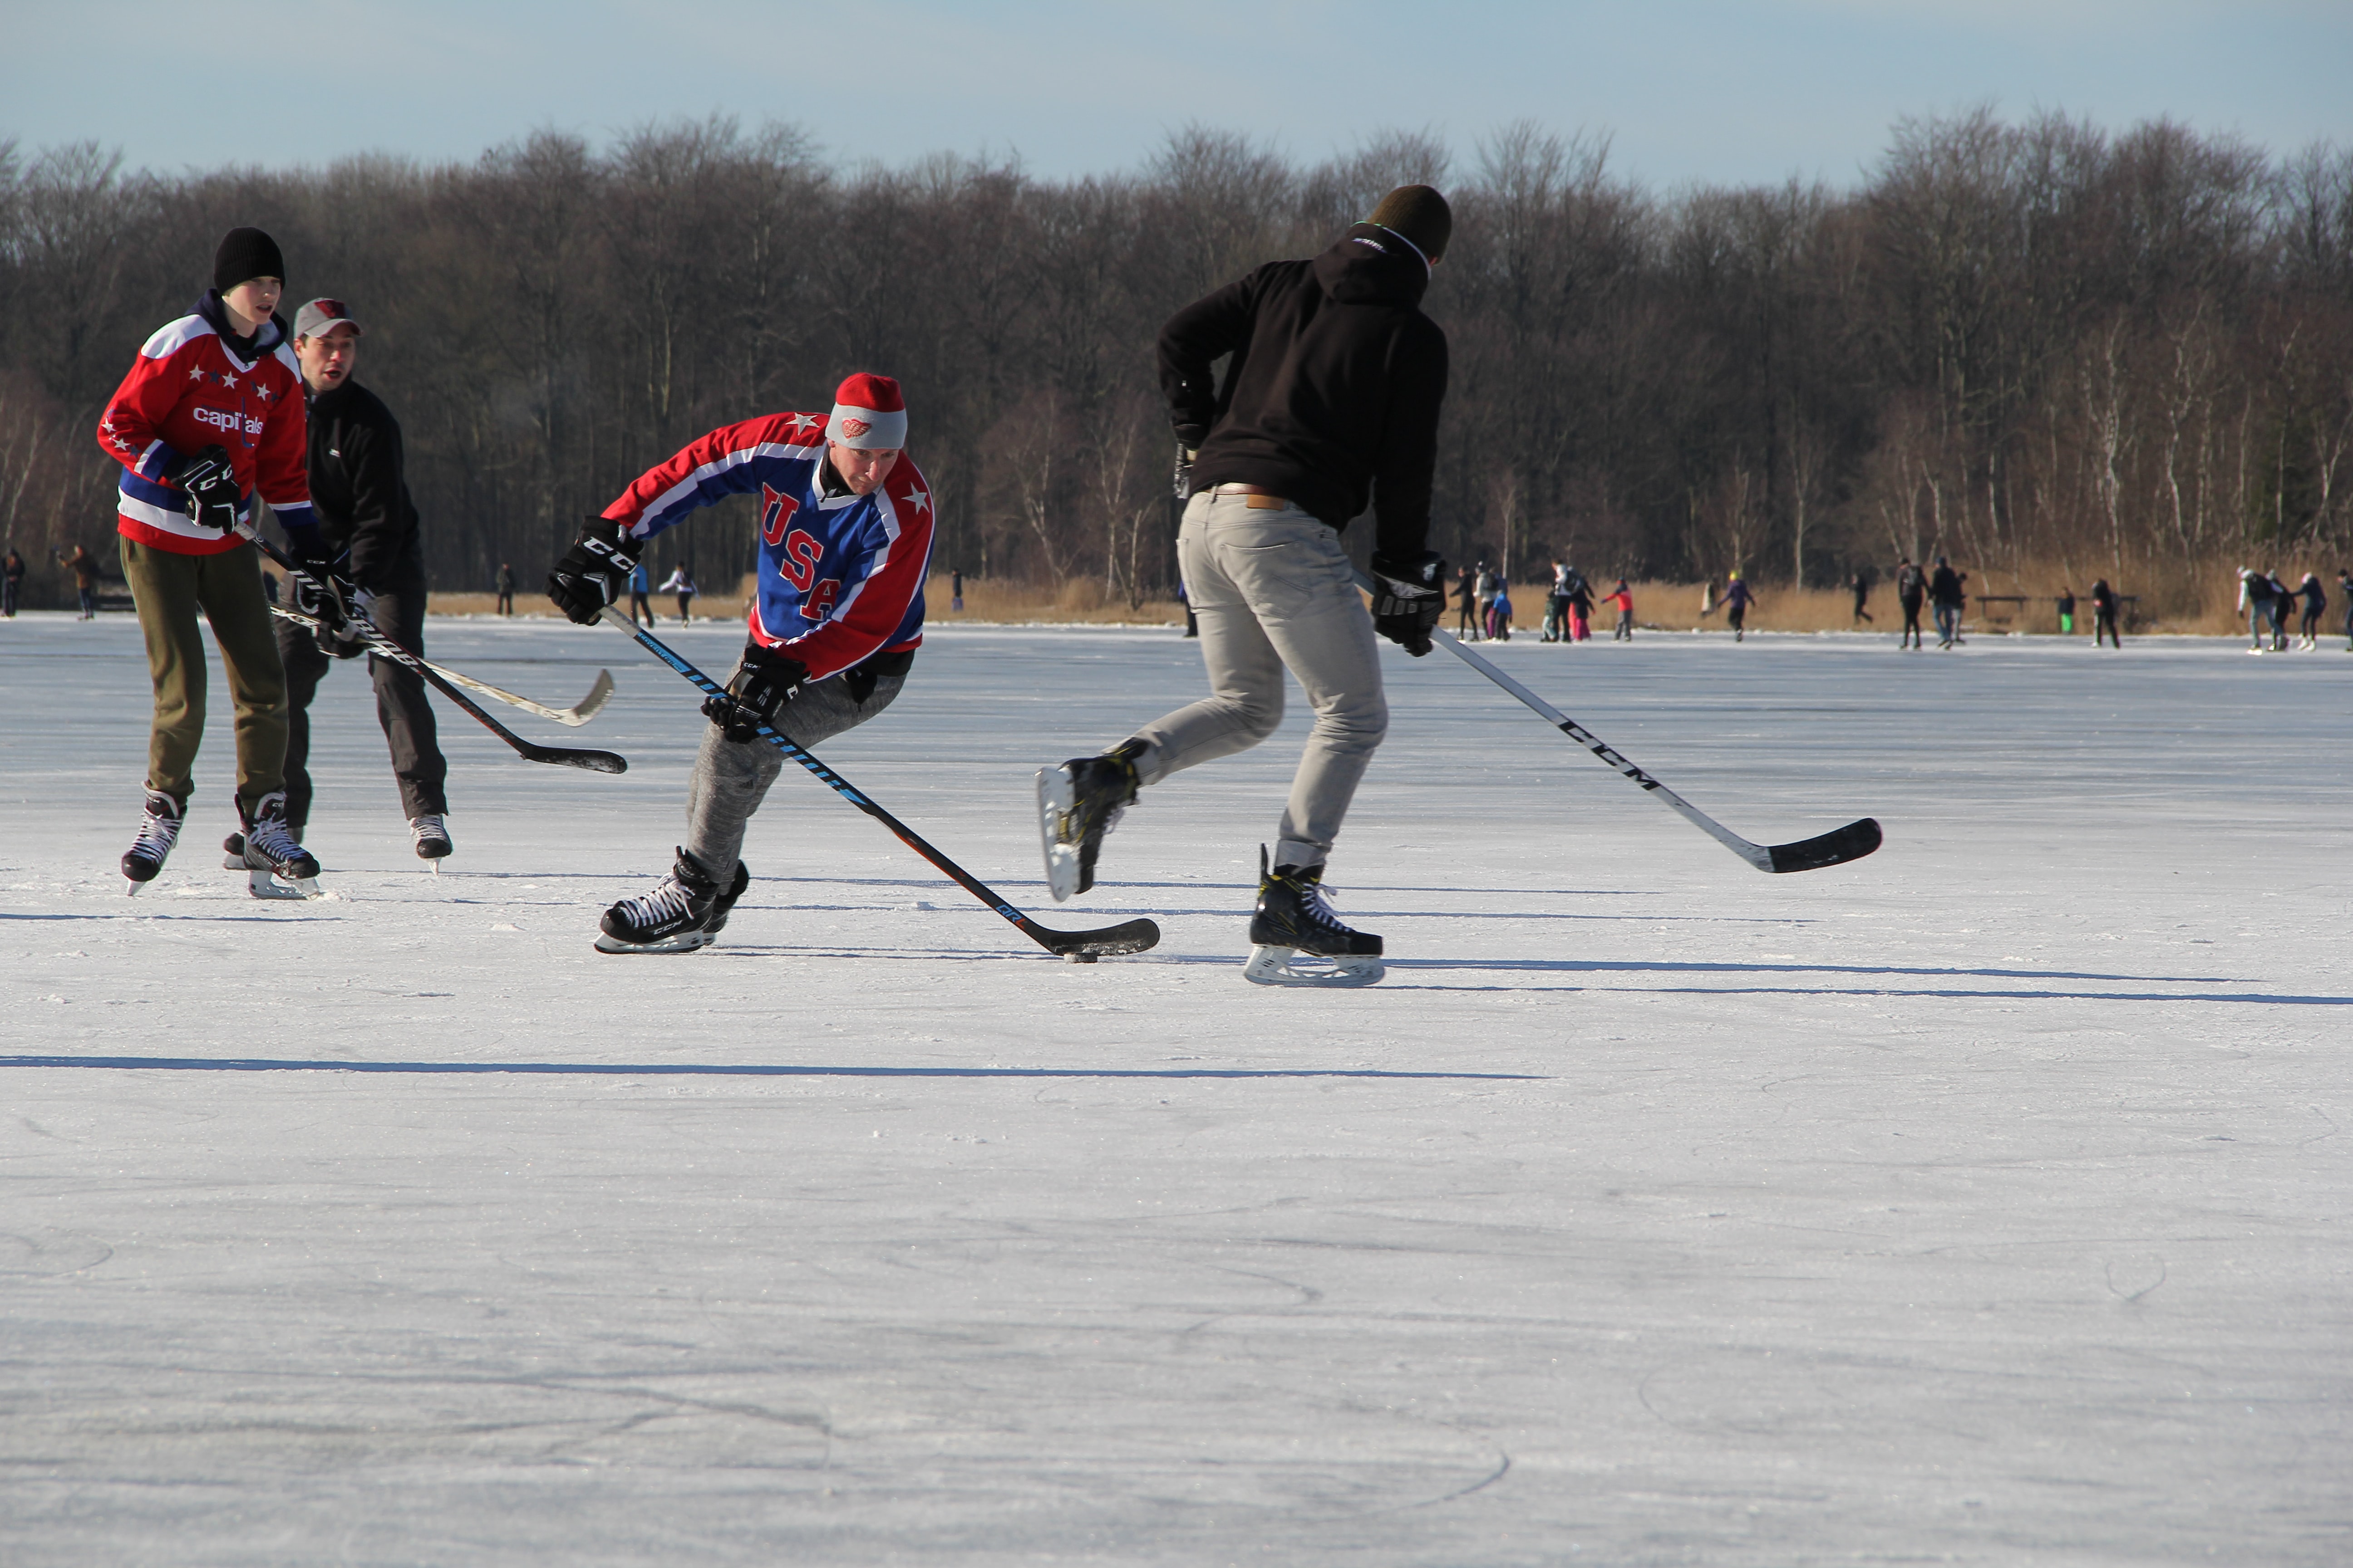
<svg viewBox="0 0 2353 1568">
<path fill-rule="evenodd" d="M 826 496 L 826 414 L 765 414 L 713 430 L 645 470 L 605 517 L 652 538 L 725 496 L 760 501 L 760 592 L 751 635 L 812 679 L 922 642 L 932 487 L 899 454 L 871 496 Z"/>
</svg>

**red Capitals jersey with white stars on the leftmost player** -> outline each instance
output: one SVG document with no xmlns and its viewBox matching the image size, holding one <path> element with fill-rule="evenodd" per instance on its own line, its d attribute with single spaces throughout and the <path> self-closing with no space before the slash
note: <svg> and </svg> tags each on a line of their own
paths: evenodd
<svg viewBox="0 0 2353 1568">
<path fill-rule="evenodd" d="M 205 299 L 139 350 L 136 364 L 99 416 L 99 447 L 122 463 L 115 531 L 155 550 L 219 555 L 245 541 L 198 527 L 188 494 L 169 484 L 165 463 L 205 447 L 228 449 L 238 475 L 238 517 L 252 515 L 259 494 L 289 529 L 313 527 L 306 473 L 308 425 L 301 369 L 273 320 L 261 327 L 254 360 L 240 360 Z"/>
</svg>

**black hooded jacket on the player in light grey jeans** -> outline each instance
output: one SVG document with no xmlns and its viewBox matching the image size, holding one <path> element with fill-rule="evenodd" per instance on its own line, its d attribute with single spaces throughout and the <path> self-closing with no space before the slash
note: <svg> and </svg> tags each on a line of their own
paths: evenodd
<svg viewBox="0 0 2353 1568">
<path fill-rule="evenodd" d="M 1431 270 L 1358 223 L 1313 261 L 1268 261 L 1160 329 L 1160 390 L 1198 447 L 1193 489 L 1254 484 L 1334 529 L 1377 505 L 1374 548 L 1412 555 L 1431 529 L 1447 334 L 1421 315 Z M 1212 362 L 1233 355 L 1224 383 Z"/>
</svg>

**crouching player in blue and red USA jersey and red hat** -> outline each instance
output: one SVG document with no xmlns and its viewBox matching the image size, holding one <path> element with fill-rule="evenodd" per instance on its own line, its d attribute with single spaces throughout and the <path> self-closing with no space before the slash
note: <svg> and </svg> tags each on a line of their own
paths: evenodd
<svg viewBox="0 0 2353 1568">
<path fill-rule="evenodd" d="M 819 745 L 899 696 L 922 642 L 932 487 L 906 456 L 906 402 L 889 376 L 856 374 L 833 414 L 767 414 L 701 437 L 591 517 L 548 574 L 548 597 L 588 625 L 624 592 L 645 541 L 725 496 L 760 501 L 751 642 L 687 785 L 687 842 L 642 898 L 605 910 L 600 952 L 694 952 L 751 884 L 744 823 L 784 755 L 767 724 Z"/>
</svg>

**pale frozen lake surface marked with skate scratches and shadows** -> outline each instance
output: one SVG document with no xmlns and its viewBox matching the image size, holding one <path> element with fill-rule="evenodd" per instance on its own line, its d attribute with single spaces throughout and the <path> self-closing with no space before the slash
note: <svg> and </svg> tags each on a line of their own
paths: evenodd
<svg viewBox="0 0 2353 1568">
<path fill-rule="evenodd" d="M 2341 644 L 1492 649 L 1753 839 L 1887 825 L 1795 877 L 1395 656 L 1351 992 L 1240 980 L 1297 712 L 1045 898 L 1031 771 L 1198 696 L 1172 632 L 934 628 L 821 748 L 1045 922 L 1162 924 L 1096 966 L 795 769 L 718 947 L 602 957 L 694 693 L 428 651 L 609 665 L 511 717 L 628 776 L 442 708 L 435 879 L 336 668 L 336 898 L 256 903 L 214 665 L 129 900 L 136 625 L 0 625 L 16 1568 L 2353 1559 Z"/>
</svg>

